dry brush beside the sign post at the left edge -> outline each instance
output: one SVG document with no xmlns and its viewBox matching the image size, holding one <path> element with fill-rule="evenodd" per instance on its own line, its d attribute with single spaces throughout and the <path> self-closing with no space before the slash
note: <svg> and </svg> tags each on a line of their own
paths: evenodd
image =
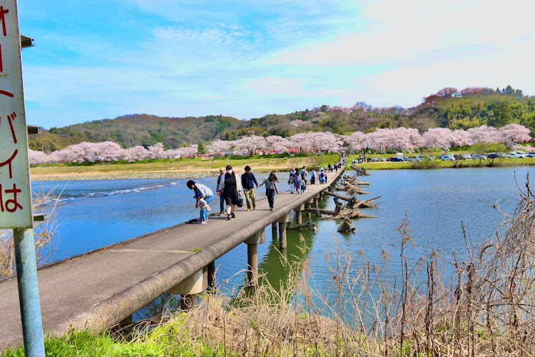
<svg viewBox="0 0 535 357">
<path fill-rule="evenodd" d="M 32 211 L 34 214 L 45 213 L 44 221 L 34 222 L 34 236 L 36 246 L 37 265 L 51 261 L 54 257 L 55 246 L 52 237 L 56 232 L 56 204 L 57 197 L 50 192 L 41 191 L 32 197 Z M 56 242 L 57 243 L 57 242 Z M 15 274 L 15 251 L 13 231 L 0 230 L 0 278 L 6 278 Z"/>
</svg>

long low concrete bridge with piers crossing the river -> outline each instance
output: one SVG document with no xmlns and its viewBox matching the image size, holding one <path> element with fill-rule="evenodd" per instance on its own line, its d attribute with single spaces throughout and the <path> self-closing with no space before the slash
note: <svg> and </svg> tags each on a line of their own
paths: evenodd
<svg viewBox="0 0 535 357">
<path fill-rule="evenodd" d="M 342 171 L 329 174 L 327 184 L 307 186 L 305 194 L 281 192 L 275 196 L 274 211 L 269 211 L 263 199 L 255 211 L 245 213 L 245 206 L 238 208 L 231 221 L 226 216 L 210 216 L 204 225 L 180 223 L 39 268 L 45 335 L 62 335 L 71 327 L 101 332 L 165 291 L 180 294 L 183 306 L 191 306 L 195 294 L 213 282 L 215 259 L 240 243 L 248 244 L 248 267 L 244 268 L 248 268 L 249 283 L 256 283 L 257 244 L 265 242 L 265 228 L 278 224 L 280 248 L 286 248 L 290 211 L 297 213 L 300 222 L 305 209 L 317 207 L 322 191 Z M 263 187 L 258 191 L 263 196 Z M 16 277 L 0 280 L 0 351 L 22 343 L 16 284 Z"/>
</svg>

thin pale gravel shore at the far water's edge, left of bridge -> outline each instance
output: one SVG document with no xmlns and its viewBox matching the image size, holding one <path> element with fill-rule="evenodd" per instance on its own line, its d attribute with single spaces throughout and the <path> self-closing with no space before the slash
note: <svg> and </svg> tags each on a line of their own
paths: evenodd
<svg viewBox="0 0 535 357">
<path fill-rule="evenodd" d="M 31 181 L 138 180 L 144 178 L 203 178 L 218 176 L 218 172 L 139 172 L 128 174 L 80 174 L 31 176 Z"/>
</svg>

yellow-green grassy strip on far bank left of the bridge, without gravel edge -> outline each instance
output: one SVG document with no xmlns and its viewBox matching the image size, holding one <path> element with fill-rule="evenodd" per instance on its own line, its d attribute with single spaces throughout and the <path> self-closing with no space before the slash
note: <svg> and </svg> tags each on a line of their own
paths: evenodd
<svg viewBox="0 0 535 357">
<path fill-rule="evenodd" d="M 253 170 L 262 171 L 287 171 L 292 167 L 317 166 L 334 163 L 340 159 L 337 154 L 320 156 L 296 155 L 291 156 L 250 156 L 223 158 L 193 158 L 193 159 L 153 159 L 128 164 L 126 161 L 110 163 L 57 163 L 32 166 L 32 177 L 61 176 L 76 174 L 123 174 L 123 173 L 146 173 L 146 172 L 193 172 L 213 171 L 217 172 L 222 166 L 233 166 L 238 171 L 243 171 L 246 165 Z"/>
</svg>

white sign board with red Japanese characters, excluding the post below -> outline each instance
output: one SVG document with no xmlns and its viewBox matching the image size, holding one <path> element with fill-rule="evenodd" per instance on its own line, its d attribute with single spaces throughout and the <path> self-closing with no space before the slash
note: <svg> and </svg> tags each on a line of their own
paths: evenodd
<svg viewBox="0 0 535 357">
<path fill-rule="evenodd" d="M 15 0 L 0 0 L 0 228 L 30 228 L 28 139 Z"/>
</svg>

